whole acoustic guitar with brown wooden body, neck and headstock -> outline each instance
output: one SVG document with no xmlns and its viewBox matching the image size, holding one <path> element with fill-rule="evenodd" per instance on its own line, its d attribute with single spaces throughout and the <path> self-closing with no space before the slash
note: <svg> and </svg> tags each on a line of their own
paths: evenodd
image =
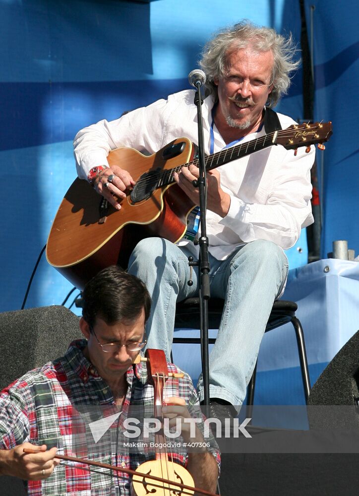
<svg viewBox="0 0 359 496">
<path fill-rule="evenodd" d="M 207 156 L 206 170 L 272 145 L 294 150 L 306 146 L 309 151 L 311 144 L 318 143 L 324 149 L 323 142 L 331 134 L 331 122 L 293 124 Z M 49 263 L 79 289 L 104 267 L 126 268 L 133 248 L 143 238 L 159 236 L 178 242 L 195 206 L 173 177 L 182 167 L 198 164 L 196 147 L 188 138 L 178 138 L 150 156 L 118 148 L 109 153 L 108 162 L 127 170 L 136 181 L 121 200 L 121 209 L 108 204 L 87 181 L 76 179 L 60 204 L 47 242 Z"/>
</svg>

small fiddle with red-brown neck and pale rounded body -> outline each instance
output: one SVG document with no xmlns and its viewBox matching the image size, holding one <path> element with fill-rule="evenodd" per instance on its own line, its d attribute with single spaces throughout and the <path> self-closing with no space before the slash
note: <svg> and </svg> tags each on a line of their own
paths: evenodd
<svg viewBox="0 0 359 496">
<path fill-rule="evenodd" d="M 154 417 L 162 418 L 161 407 L 164 399 L 164 388 L 166 380 L 169 378 L 167 362 L 163 350 L 146 350 L 147 377 L 154 387 Z M 182 374 L 180 374 L 182 375 Z M 162 433 L 155 434 L 155 445 L 164 446 L 156 450 L 154 460 L 142 463 L 135 472 L 141 473 L 141 476 L 133 476 L 132 488 L 136 496 L 146 496 L 151 493 L 155 496 L 181 496 L 181 491 L 177 485 L 180 483 L 186 487 L 185 494 L 194 493 L 194 481 L 191 474 L 179 463 L 173 461 L 166 448 L 165 437 Z M 143 474 L 151 474 L 166 479 L 168 483 L 163 488 L 154 487 L 151 480 L 146 480 Z M 189 490 L 193 488 L 193 490 Z"/>
</svg>

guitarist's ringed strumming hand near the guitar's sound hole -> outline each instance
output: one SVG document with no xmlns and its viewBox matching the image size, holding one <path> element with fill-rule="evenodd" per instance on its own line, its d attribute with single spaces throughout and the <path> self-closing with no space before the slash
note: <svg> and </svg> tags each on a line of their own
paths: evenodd
<svg viewBox="0 0 359 496">
<path fill-rule="evenodd" d="M 118 165 L 113 165 L 100 172 L 93 186 L 116 210 L 120 210 L 121 205 L 118 199 L 125 198 L 126 193 L 124 191 L 131 189 L 135 184 L 129 172 L 121 169 Z"/>
</svg>

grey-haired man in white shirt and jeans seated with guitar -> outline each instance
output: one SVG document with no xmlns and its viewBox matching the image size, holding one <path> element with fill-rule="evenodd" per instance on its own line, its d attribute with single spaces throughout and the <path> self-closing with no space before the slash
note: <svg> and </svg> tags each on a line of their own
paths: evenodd
<svg viewBox="0 0 359 496">
<path fill-rule="evenodd" d="M 205 153 L 260 139 L 295 122 L 273 107 L 290 84 L 291 38 L 267 27 L 241 22 L 220 32 L 205 47 L 201 67 L 207 76 L 202 105 Z M 131 169 L 111 165 L 107 154 L 130 146 L 155 153 L 186 136 L 196 143 L 194 91 L 185 90 L 120 119 L 101 121 L 79 131 L 75 157 L 80 178 L 120 210 L 124 190 L 134 186 Z M 247 147 L 248 148 L 248 147 Z M 273 302 L 284 289 L 288 260 L 284 249 L 297 242 L 313 222 L 310 168 L 314 148 L 295 155 L 269 146 L 211 170 L 207 175 L 207 236 L 211 296 L 225 300 L 216 344 L 210 354 L 211 404 L 241 405 L 253 372 Z M 195 205 L 198 169 L 183 167 L 174 180 Z M 148 346 L 170 355 L 176 303 L 198 294 L 198 272 L 189 286 L 188 256 L 198 255 L 195 229 L 173 244 L 162 238 L 138 243 L 128 271 L 142 279 L 153 301 L 147 325 Z M 198 382 L 203 401 L 202 379 Z M 237 408 L 238 410 L 238 408 Z"/>
</svg>

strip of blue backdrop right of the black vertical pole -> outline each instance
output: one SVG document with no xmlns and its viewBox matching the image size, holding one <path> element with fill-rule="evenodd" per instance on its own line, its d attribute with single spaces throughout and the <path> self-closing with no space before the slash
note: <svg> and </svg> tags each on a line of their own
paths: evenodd
<svg viewBox="0 0 359 496">
<path fill-rule="evenodd" d="M 333 121 L 334 133 L 321 157 L 319 182 L 323 205 L 322 257 L 332 242 L 348 240 L 359 251 L 358 188 L 359 3 L 356 0 L 306 1 L 314 20 L 315 120 Z M 320 159 L 318 160 L 320 164 Z"/>
</svg>

